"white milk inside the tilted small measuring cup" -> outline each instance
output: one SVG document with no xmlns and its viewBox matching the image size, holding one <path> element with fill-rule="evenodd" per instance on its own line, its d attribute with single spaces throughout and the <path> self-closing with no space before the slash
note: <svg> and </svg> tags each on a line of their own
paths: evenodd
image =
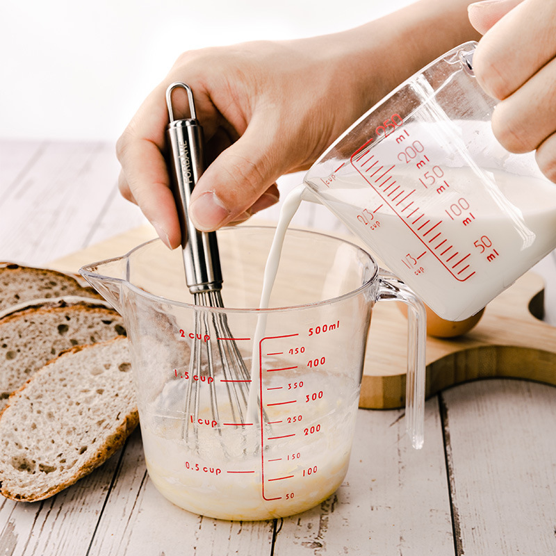
<svg viewBox="0 0 556 556">
<path fill-rule="evenodd" d="M 472 170 L 445 168 L 436 186 L 451 187 L 419 188 L 414 173 L 392 173 L 380 195 L 359 174 L 335 174 L 318 199 L 433 311 L 462 320 L 556 243 L 555 184 L 484 172 L 489 191 Z"/>
</svg>

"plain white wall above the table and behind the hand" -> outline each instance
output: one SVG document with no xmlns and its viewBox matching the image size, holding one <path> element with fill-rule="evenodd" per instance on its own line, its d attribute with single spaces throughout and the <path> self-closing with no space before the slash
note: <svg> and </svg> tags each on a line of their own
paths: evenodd
<svg viewBox="0 0 556 556">
<path fill-rule="evenodd" d="M 341 31 L 409 2 L 0 0 L 0 138 L 113 141 L 182 51 Z"/>
</svg>

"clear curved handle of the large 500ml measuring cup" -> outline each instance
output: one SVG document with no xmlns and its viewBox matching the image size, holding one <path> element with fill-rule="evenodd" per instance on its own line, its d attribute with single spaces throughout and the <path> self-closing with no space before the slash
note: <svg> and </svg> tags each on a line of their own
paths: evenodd
<svg viewBox="0 0 556 556">
<path fill-rule="evenodd" d="M 377 301 L 401 301 L 407 311 L 405 420 L 414 448 L 423 448 L 425 428 L 425 345 L 427 313 L 423 302 L 391 272 L 381 269 Z"/>
</svg>

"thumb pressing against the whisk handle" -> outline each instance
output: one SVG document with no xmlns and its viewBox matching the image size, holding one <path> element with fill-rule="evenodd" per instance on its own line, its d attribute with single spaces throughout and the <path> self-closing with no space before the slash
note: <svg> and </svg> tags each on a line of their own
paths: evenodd
<svg viewBox="0 0 556 556">
<path fill-rule="evenodd" d="M 263 126 L 252 120 L 243 136 L 199 178 L 191 194 L 189 215 L 200 231 L 246 220 L 245 213 L 255 202 L 261 210 L 278 201 L 276 189 L 270 187 L 290 164 L 285 146 L 272 138 L 268 123 Z"/>
</svg>

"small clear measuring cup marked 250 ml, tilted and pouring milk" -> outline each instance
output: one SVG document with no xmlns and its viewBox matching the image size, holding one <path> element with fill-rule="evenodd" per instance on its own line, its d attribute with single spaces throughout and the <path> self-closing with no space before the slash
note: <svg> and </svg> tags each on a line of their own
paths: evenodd
<svg viewBox="0 0 556 556">
<path fill-rule="evenodd" d="M 491 131 L 476 43 L 438 58 L 355 122 L 304 177 L 431 309 L 463 320 L 556 247 L 556 185 Z M 313 195 L 311 195 L 311 193 Z"/>
</svg>

